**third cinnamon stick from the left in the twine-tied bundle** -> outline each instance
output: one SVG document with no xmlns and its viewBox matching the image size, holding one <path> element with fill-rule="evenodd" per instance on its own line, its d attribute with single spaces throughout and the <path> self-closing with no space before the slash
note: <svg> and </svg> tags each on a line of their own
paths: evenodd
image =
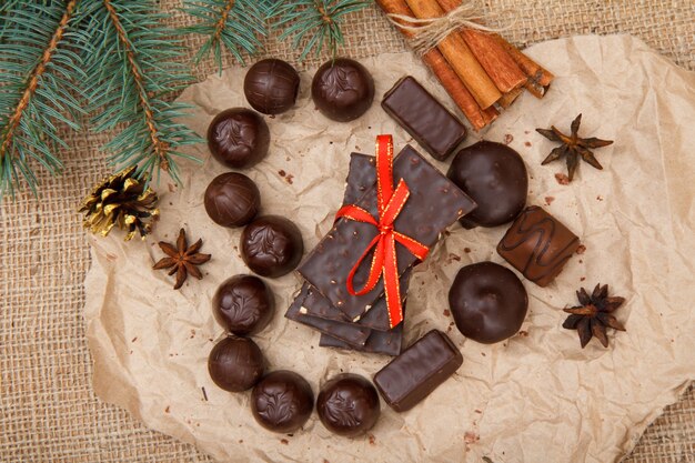
<svg viewBox="0 0 695 463">
<path fill-rule="evenodd" d="M 455 10 L 461 0 L 436 0 L 445 13 Z M 492 34 L 475 29 L 460 32 L 490 79 L 502 93 L 521 88 L 528 78 Z"/>
</svg>

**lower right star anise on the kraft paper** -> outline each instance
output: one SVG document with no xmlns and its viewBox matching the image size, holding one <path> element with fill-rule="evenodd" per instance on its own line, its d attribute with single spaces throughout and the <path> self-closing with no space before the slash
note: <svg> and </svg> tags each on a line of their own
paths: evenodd
<svg viewBox="0 0 695 463">
<path fill-rule="evenodd" d="M 580 334 L 582 349 L 592 336 L 596 336 L 604 348 L 608 346 L 608 338 L 606 336 L 606 328 L 625 331 L 625 326 L 616 320 L 611 313 L 623 305 L 625 298 L 608 296 L 608 285 L 596 284 L 594 292 L 588 295 L 586 290 L 582 288 L 576 292 L 580 304 L 574 308 L 563 309 L 571 315 L 562 324 L 567 330 L 576 330 Z"/>
</svg>

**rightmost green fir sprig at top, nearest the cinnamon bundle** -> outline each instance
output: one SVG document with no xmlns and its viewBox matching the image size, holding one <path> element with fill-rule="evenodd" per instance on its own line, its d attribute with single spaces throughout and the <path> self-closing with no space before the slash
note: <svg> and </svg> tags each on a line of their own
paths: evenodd
<svg viewBox="0 0 695 463">
<path fill-rule="evenodd" d="M 294 48 L 305 40 L 300 61 L 312 50 L 320 56 L 326 44 L 331 56 L 335 57 L 338 47 L 344 42 L 340 28 L 343 17 L 370 3 L 366 0 L 275 0 L 269 19 L 276 20 L 275 27 L 286 28 L 280 39 L 292 37 Z"/>
</svg>

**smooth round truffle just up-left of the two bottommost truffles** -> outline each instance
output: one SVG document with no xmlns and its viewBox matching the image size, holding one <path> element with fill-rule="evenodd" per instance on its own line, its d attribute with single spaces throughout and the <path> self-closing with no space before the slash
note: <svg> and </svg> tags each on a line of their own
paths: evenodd
<svg viewBox="0 0 695 463">
<path fill-rule="evenodd" d="M 212 348 L 208 372 L 212 381 L 229 392 L 251 389 L 263 375 L 261 350 L 246 338 L 225 338 Z"/>
</svg>

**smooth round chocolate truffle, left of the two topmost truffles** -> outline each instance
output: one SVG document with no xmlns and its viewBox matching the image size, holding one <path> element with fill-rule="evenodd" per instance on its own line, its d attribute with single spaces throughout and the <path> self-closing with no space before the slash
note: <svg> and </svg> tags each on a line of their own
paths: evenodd
<svg viewBox="0 0 695 463">
<path fill-rule="evenodd" d="M 285 61 L 261 60 L 244 79 L 249 104 L 263 114 L 280 114 L 294 105 L 300 91 L 300 74 Z"/>
</svg>

